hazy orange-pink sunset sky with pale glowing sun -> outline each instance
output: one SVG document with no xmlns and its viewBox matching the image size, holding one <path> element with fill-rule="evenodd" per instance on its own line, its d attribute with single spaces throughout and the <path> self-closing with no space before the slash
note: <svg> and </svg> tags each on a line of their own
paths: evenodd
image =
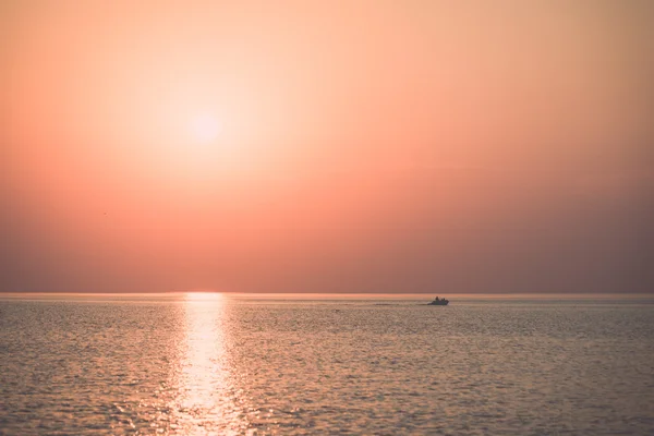
<svg viewBox="0 0 654 436">
<path fill-rule="evenodd" d="M 0 3 L 0 291 L 654 292 L 651 1 Z"/>
</svg>

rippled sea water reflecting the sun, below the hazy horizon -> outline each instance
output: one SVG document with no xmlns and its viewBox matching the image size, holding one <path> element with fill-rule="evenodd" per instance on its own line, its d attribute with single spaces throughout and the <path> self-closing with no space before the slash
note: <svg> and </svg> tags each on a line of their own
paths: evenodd
<svg viewBox="0 0 654 436">
<path fill-rule="evenodd" d="M 451 301 L 0 296 L 0 434 L 654 434 L 654 304 Z"/>
</svg>

